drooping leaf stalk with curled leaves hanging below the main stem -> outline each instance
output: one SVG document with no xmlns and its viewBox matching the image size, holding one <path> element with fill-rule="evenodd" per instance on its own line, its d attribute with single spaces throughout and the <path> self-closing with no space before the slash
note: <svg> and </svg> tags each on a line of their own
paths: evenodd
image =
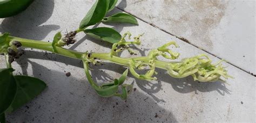
<svg viewBox="0 0 256 123">
<path fill-rule="evenodd" d="M 126 84 L 122 85 L 122 84 L 124 83 L 124 81 L 126 79 L 128 69 L 124 71 L 123 75 L 119 79 L 114 79 L 113 82 L 103 84 L 102 86 L 98 86 L 93 81 L 93 79 L 90 75 L 90 72 L 89 72 L 89 62 L 87 62 L 87 61 L 84 61 L 84 70 L 85 70 L 85 74 L 86 74 L 86 77 L 87 77 L 89 83 L 91 84 L 93 89 L 95 89 L 95 91 L 97 92 L 97 94 L 99 96 L 102 96 L 102 97 L 119 96 L 122 99 L 127 98 L 127 93 L 128 92 L 126 90 L 126 86 L 128 86 L 128 85 L 126 85 Z M 122 86 L 122 91 L 123 91 L 124 96 L 117 93 L 119 85 Z M 125 89 L 123 87 L 125 87 Z"/>
</svg>

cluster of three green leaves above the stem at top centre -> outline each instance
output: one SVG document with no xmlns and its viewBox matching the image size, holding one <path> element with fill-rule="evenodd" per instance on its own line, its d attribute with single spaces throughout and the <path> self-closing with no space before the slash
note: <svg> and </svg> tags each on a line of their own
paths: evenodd
<svg viewBox="0 0 256 123">
<path fill-rule="evenodd" d="M 110 17 L 105 17 L 106 13 L 113 10 L 117 0 L 97 0 L 86 16 L 80 22 L 79 30 L 83 30 L 87 35 L 98 40 L 110 42 L 112 44 L 120 41 L 121 35 L 109 27 L 98 27 L 84 30 L 86 27 L 103 22 L 123 22 L 138 25 L 136 18 L 126 13 L 117 13 Z M 104 18 L 105 17 L 105 18 Z"/>
</svg>

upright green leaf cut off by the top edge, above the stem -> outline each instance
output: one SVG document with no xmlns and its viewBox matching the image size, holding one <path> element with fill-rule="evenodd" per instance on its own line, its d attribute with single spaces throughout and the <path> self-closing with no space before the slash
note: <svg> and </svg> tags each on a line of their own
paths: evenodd
<svg viewBox="0 0 256 123">
<path fill-rule="evenodd" d="M 95 25 L 105 17 L 107 10 L 109 10 L 109 0 L 97 0 L 80 22 L 79 28 Z"/>
</svg>

